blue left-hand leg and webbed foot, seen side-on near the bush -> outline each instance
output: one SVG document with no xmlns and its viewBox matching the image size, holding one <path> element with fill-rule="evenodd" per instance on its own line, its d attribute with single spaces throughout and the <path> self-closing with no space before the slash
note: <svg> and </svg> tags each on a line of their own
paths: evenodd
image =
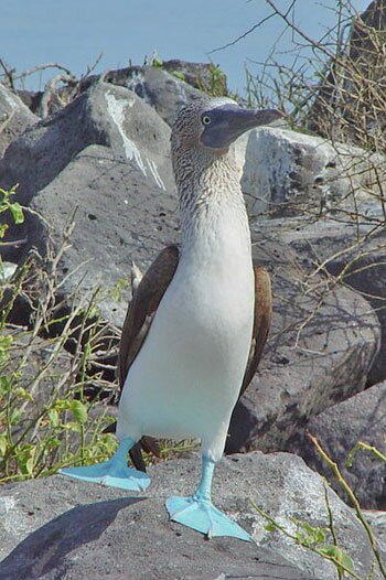
<svg viewBox="0 0 386 580">
<path fill-rule="evenodd" d="M 150 484 L 149 475 L 127 465 L 127 454 L 135 444 L 133 439 L 122 439 L 117 451 L 108 461 L 82 468 L 65 468 L 58 470 L 58 473 L 75 480 L 100 483 L 121 490 L 144 491 Z"/>
</svg>

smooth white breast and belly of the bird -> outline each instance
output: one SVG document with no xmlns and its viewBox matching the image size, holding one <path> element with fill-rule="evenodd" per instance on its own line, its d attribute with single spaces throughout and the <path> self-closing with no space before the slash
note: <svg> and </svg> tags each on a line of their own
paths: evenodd
<svg viewBox="0 0 386 580">
<path fill-rule="evenodd" d="M 218 459 L 250 347 L 254 272 L 248 232 L 232 212 L 204 232 L 182 255 L 128 373 L 118 434 L 136 426 L 201 438 Z"/>
</svg>

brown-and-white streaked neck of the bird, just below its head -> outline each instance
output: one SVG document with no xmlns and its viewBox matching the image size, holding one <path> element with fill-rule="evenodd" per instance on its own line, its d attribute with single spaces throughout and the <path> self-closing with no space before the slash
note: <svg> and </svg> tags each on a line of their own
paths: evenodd
<svg viewBox="0 0 386 580">
<path fill-rule="evenodd" d="M 180 167 L 181 171 L 181 167 Z M 240 170 L 232 153 L 197 153 L 176 172 L 180 194 L 182 255 L 250 253 L 250 233 Z"/>
</svg>

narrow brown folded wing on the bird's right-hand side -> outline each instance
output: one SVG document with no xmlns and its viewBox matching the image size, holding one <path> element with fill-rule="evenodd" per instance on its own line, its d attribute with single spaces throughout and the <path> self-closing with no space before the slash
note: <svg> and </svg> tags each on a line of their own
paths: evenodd
<svg viewBox="0 0 386 580">
<path fill-rule="evenodd" d="M 240 396 L 255 376 L 272 315 L 272 293 L 269 273 L 262 266 L 254 265 L 255 270 L 255 321 L 251 336 L 250 352 L 245 370 Z"/>
</svg>

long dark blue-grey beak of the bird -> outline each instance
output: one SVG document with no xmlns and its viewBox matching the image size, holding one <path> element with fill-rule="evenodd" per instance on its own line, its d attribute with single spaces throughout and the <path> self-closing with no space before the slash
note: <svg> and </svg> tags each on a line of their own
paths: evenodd
<svg viewBox="0 0 386 580">
<path fill-rule="evenodd" d="M 282 116 L 276 109 L 243 109 L 237 105 L 218 107 L 212 116 L 212 122 L 202 132 L 201 141 L 205 147 L 225 149 L 245 131 L 269 125 Z"/>
</svg>

